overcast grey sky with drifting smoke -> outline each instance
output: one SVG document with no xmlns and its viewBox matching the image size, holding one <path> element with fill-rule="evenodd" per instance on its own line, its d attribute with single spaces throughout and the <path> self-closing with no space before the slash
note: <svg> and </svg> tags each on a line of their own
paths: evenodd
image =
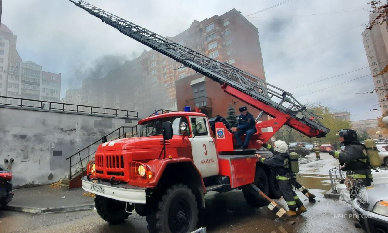
<svg viewBox="0 0 388 233">
<path fill-rule="evenodd" d="M 194 20 L 236 8 L 258 28 L 268 83 L 289 90 L 303 104 L 321 102 L 334 109 L 349 109 L 352 120 L 361 120 L 381 115 L 373 110 L 379 109 L 376 93 L 357 94 L 374 88 L 370 69 L 361 69 L 369 66 L 361 36 L 369 19 L 368 1 L 86 2 L 163 36 L 175 36 Z M 264 10 L 276 3 L 283 4 Z M 253 14 L 260 10 L 264 11 Z M 96 68 L 106 74 L 107 67 L 117 67 L 149 50 L 68 0 L 4 0 L 1 22 L 17 35 L 23 61 L 33 61 L 44 71 L 61 72 L 62 98 L 69 88 L 80 88 L 81 77 Z M 350 73 L 294 88 L 346 72 Z M 359 79 L 337 85 L 355 78 Z M 327 89 L 318 91 L 323 88 Z"/>
</svg>

